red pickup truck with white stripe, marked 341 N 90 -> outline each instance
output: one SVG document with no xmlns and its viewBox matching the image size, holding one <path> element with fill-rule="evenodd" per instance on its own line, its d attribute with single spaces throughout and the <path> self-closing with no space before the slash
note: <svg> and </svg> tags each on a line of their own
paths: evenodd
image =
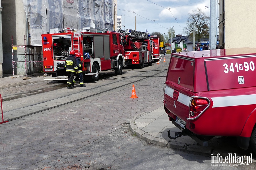
<svg viewBox="0 0 256 170">
<path fill-rule="evenodd" d="M 225 50 L 172 53 L 164 109 L 181 133 L 203 146 L 214 136 L 237 137 L 256 153 L 256 54 Z"/>
</svg>

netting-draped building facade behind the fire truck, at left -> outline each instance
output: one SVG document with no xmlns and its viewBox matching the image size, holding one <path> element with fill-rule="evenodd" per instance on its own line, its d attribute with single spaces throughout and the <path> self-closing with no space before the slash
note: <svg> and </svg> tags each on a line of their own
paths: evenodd
<svg viewBox="0 0 256 170">
<path fill-rule="evenodd" d="M 8 0 L 3 1 L 1 7 L 3 7 L 0 8 L 3 9 L 1 23 L 4 23 L 1 30 L 4 34 L 0 36 L 0 41 L 3 38 L 4 43 L 3 48 L 0 47 L 0 66 L 5 74 L 25 75 L 29 71 L 30 73 L 41 72 L 41 34 L 48 32 L 51 28 L 62 30 L 67 27 L 73 29 L 93 27 L 113 30 L 114 17 L 117 16 L 114 15 L 117 0 L 115 3 L 113 0 Z M 34 51 L 36 55 L 24 55 L 24 47 L 13 50 L 13 45 L 26 45 L 26 54 Z M 27 46 L 33 46 L 33 49 Z M 3 57 L 1 57 L 1 50 L 3 50 Z M 25 64 L 25 61 L 38 62 L 34 67 L 34 63 Z"/>
</svg>

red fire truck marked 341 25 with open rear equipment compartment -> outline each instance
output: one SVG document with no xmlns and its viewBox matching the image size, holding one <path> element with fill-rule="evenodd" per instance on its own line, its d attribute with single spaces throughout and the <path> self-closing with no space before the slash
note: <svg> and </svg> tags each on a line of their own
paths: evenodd
<svg viewBox="0 0 256 170">
<path fill-rule="evenodd" d="M 107 29 L 50 29 L 50 32 L 42 34 L 43 69 L 45 73 L 52 74 L 52 78 L 45 77 L 45 80 L 67 80 L 64 63 L 71 50 L 83 55 L 83 73 L 92 76 L 94 81 L 104 70 L 114 69 L 116 75 L 121 75 L 125 65 L 123 42 L 121 33 Z"/>
</svg>

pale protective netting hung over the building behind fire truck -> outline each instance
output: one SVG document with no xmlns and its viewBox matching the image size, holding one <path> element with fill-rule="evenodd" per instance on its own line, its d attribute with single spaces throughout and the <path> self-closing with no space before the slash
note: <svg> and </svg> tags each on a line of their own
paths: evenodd
<svg viewBox="0 0 256 170">
<path fill-rule="evenodd" d="M 22 0 L 30 25 L 31 44 L 51 28 L 113 30 L 113 0 Z"/>
</svg>

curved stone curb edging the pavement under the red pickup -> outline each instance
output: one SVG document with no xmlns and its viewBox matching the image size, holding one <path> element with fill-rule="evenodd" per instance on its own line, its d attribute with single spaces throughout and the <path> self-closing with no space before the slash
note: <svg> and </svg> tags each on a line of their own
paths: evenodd
<svg viewBox="0 0 256 170">
<path fill-rule="evenodd" d="M 214 156 L 217 156 L 217 154 L 220 154 L 221 156 L 227 156 L 229 153 L 230 154 L 232 153 L 225 150 L 215 149 L 209 146 L 190 145 L 190 144 L 180 143 L 176 141 L 166 141 L 165 139 L 149 135 L 145 131 L 138 128 L 135 123 L 135 120 L 143 116 L 144 114 L 145 113 L 141 113 L 133 117 L 130 121 L 129 126 L 133 134 L 135 134 L 136 136 L 138 136 L 139 138 L 145 141 L 148 141 L 149 143 L 159 145 L 159 146 L 167 146 L 169 148 L 175 148 L 175 149 L 181 149 L 181 150 L 187 150 L 187 151 L 199 152 L 199 153 L 205 153 L 205 154 L 212 154 Z M 233 152 L 232 154 L 235 154 L 235 153 Z M 256 162 L 256 160 L 253 159 L 253 162 Z"/>
</svg>

